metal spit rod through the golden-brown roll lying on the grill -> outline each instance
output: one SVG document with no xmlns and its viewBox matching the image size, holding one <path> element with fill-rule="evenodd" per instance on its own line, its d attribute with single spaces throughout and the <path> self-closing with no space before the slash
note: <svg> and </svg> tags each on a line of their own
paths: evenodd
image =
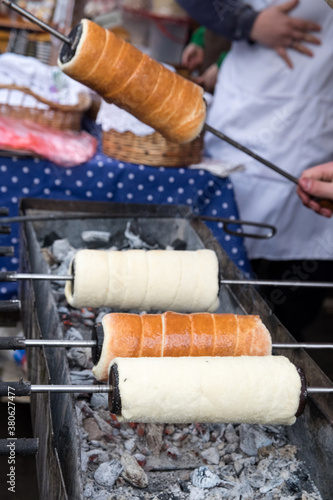
<svg viewBox="0 0 333 500">
<path fill-rule="evenodd" d="M 0 338 L 0 350 L 24 349 L 25 347 L 95 347 L 95 340 L 26 339 L 25 337 Z M 273 349 L 333 349 L 333 344 L 281 343 L 272 344 Z"/>
</svg>

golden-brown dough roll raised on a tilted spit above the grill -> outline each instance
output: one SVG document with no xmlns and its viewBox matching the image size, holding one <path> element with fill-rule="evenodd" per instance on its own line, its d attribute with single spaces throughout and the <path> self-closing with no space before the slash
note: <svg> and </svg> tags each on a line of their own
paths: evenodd
<svg viewBox="0 0 333 500">
<path fill-rule="evenodd" d="M 173 142 L 194 140 L 206 118 L 203 89 L 128 42 L 83 19 L 69 35 L 60 69 Z"/>
</svg>

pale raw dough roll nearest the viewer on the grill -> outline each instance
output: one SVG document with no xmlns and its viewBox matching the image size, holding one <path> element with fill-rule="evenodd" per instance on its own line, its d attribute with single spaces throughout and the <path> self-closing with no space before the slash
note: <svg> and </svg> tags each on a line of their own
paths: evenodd
<svg viewBox="0 0 333 500">
<path fill-rule="evenodd" d="M 306 400 L 283 356 L 116 358 L 109 408 L 120 422 L 291 425 Z"/>
</svg>

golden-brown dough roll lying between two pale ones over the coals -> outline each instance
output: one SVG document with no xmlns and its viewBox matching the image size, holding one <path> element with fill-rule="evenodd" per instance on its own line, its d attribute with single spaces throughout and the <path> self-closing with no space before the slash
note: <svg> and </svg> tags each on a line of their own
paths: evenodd
<svg viewBox="0 0 333 500">
<path fill-rule="evenodd" d="M 272 339 L 259 316 L 236 314 L 106 314 L 93 337 L 93 368 L 106 382 L 117 357 L 268 356 Z"/>
</svg>

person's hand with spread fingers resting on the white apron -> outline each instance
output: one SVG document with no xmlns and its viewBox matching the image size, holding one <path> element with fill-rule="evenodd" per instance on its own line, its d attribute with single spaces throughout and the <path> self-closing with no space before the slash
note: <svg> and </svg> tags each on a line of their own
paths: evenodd
<svg viewBox="0 0 333 500">
<path fill-rule="evenodd" d="M 290 17 L 299 0 L 290 0 L 281 5 L 268 7 L 254 21 L 251 40 L 274 49 L 289 68 L 293 67 L 287 49 L 293 49 L 312 57 L 313 52 L 303 42 L 320 45 L 320 39 L 312 32 L 321 31 L 317 23 Z"/>
</svg>

